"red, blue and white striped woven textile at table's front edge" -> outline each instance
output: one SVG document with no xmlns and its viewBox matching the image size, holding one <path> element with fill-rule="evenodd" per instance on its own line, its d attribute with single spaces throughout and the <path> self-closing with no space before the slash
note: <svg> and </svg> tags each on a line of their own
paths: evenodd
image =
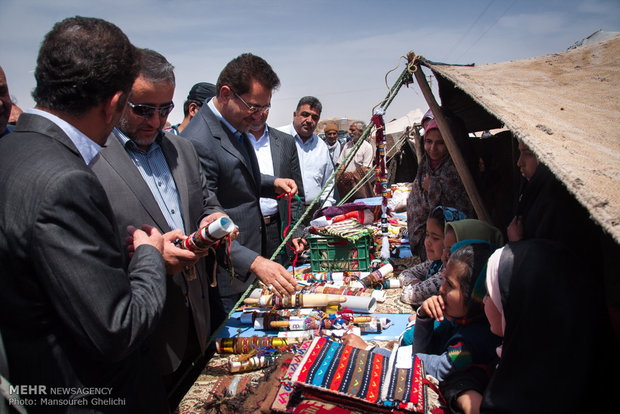
<svg viewBox="0 0 620 414">
<path fill-rule="evenodd" d="M 369 412 L 424 412 L 424 369 L 419 358 L 413 358 L 412 368 L 395 368 L 395 358 L 316 338 L 292 381 L 313 398 Z"/>
</svg>

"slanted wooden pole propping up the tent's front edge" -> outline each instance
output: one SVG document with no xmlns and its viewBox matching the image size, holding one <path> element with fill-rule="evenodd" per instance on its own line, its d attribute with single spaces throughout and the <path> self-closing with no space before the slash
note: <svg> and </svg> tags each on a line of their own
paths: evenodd
<svg viewBox="0 0 620 414">
<path fill-rule="evenodd" d="M 415 70 L 414 72 L 415 78 L 418 81 L 418 85 L 420 85 L 420 89 L 422 90 L 424 99 L 426 99 L 426 103 L 428 103 L 431 111 L 433 111 L 433 116 L 435 117 L 435 121 L 437 121 L 437 126 L 439 126 L 441 136 L 446 143 L 446 147 L 448 148 L 450 157 L 452 157 L 454 166 L 456 167 L 456 170 L 461 177 L 461 181 L 463 182 L 465 191 L 467 191 L 467 195 L 469 196 L 469 199 L 474 206 L 476 215 L 478 216 L 478 219 L 486 221 L 487 223 L 491 223 L 491 219 L 486 208 L 484 207 L 484 203 L 482 202 L 480 193 L 478 193 L 476 183 L 474 182 L 474 179 L 471 176 L 471 172 L 469 171 L 469 168 L 465 163 L 465 159 L 463 158 L 463 154 L 461 154 L 461 150 L 459 149 L 456 141 L 454 140 L 454 137 L 452 136 L 450 125 L 448 124 L 446 118 L 443 116 L 443 112 L 441 112 L 441 108 L 435 100 L 435 96 L 433 95 L 430 86 L 428 86 L 428 82 L 426 81 L 424 72 L 422 72 L 422 66 L 420 65 L 419 61 L 416 65 L 417 70 Z"/>
</svg>

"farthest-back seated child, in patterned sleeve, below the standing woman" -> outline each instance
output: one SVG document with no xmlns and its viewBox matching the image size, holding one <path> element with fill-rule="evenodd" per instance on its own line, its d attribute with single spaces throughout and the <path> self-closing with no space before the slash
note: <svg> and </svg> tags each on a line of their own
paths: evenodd
<svg viewBox="0 0 620 414">
<path fill-rule="evenodd" d="M 452 207 L 437 206 L 426 219 L 424 248 L 427 260 L 405 269 L 398 276 L 403 291 L 400 300 L 413 306 L 420 306 L 427 298 L 439 293 L 441 278 L 444 227 L 446 223 L 466 218 L 465 214 Z"/>
</svg>

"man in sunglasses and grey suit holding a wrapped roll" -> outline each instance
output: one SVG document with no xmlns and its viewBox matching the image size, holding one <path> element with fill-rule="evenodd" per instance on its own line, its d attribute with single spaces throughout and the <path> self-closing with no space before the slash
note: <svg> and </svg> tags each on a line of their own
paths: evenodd
<svg viewBox="0 0 620 414">
<path fill-rule="evenodd" d="M 166 303 L 150 343 L 174 409 L 206 363 L 211 334 L 209 275 L 205 260 L 198 260 L 206 252 L 194 254 L 174 241 L 225 214 L 207 188 L 191 142 L 162 131 L 174 106 L 174 67 L 150 49 L 142 49 L 141 62 L 125 111 L 93 171 L 119 228 L 147 223 L 165 233 Z"/>
</svg>

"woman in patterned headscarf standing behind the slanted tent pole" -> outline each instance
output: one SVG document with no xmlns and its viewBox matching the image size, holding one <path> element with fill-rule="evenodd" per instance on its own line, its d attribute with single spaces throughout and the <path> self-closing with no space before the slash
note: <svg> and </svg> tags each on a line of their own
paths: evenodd
<svg viewBox="0 0 620 414">
<path fill-rule="evenodd" d="M 467 132 L 462 121 L 455 116 L 446 116 L 446 119 L 461 152 L 468 161 L 471 161 L 465 143 Z M 424 251 L 426 219 L 439 205 L 454 207 L 467 217 L 472 217 L 474 213 L 437 122 L 431 119 L 425 127 L 423 155 L 407 199 L 407 230 L 411 253 L 419 256 L 421 261 L 426 260 Z"/>
</svg>

